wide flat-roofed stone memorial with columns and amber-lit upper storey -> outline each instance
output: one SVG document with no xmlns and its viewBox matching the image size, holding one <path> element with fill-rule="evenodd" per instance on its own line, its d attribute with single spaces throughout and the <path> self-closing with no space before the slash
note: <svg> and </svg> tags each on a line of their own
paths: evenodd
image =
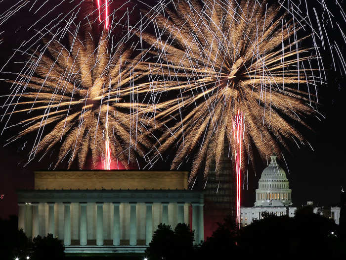
<svg viewBox="0 0 346 260">
<path fill-rule="evenodd" d="M 37 171 L 18 191 L 18 228 L 53 234 L 66 253 L 143 253 L 160 223 L 186 223 L 204 240 L 203 193 L 185 171 Z"/>
</svg>

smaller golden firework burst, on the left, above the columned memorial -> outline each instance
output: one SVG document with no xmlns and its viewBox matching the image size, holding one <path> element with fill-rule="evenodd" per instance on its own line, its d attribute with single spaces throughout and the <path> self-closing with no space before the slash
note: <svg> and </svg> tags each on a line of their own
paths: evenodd
<svg viewBox="0 0 346 260">
<path fill-rule="evenodd" d="M 109 48 L 105 32 L 95 43 L 88 28 L 84 37 L 71 35 L 68 48 L 51 41 L 47 52 L 35 52 L 25 72 L 10 81 L 14 88 L 5 104 L 7 122 L 13 114 L 30 116 L 16 124 L 25 129 L 9 142 L 36 132 L 29 161 L 60 145 L 57 164 L 67 157 L 70 167 L 78 157 L 83 168 L 91 152 L 94 165 L 105 154 L 109 169 L 112 152 L 128 168 L 150 144 L 145 134 L 138 134 L 146 132 L 143 105 L 133 102 L 138 58 L 132 59 L 124 45 Z"/>
</svg>

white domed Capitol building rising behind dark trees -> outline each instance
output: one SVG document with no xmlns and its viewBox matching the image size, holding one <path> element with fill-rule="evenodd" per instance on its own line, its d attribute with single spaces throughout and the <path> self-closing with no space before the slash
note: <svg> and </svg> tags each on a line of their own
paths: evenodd
<svg viewBox="0 0 346 260">
<path fill-rule="evenodd" d="M 312 206 L 313 202 L 307 202 Z M 260 219 L 262 212 L 273 213 L 277 216 L 288 215 L 293 217 L 297 208 L 292 207 L 292 190 L 286 173 L 276 162 L 276 156 L 270 156 L 270 164 L 266 167 L 259 179 L 259 188 L 256 190 L 255 207 L 240 209 L 241 225 L 251 224 L 254 219 Z M 322 214 L 322 208 L 313 208 L 314 213 Z M 340 207 L 331 208 L 331 218 L 339 225 Z"/>
</svg>

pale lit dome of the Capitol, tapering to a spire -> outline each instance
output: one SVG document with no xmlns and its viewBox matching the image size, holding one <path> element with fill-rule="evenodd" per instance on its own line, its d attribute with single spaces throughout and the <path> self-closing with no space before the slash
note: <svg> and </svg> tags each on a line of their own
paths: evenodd
<svg viewBox="0 0 346 260">
<path fill-rule="evenodd" d="M 270 164 L 259 179 L 256 190 L 255 207 L 282 207 L 292 205 L 291 189 L 286 173 L 276 162 L 276 156 L 270 156 Z"/>
</svg>

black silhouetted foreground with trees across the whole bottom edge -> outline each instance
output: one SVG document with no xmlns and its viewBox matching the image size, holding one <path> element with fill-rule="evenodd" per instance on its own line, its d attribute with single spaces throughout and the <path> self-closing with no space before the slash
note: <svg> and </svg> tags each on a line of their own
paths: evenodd
<svg viewBox="0 0 346 260">
<path fill-rule="evenodd" d="M 212 237 L 198 245 L 187 225 L 178 224 L 172 230 L 160 224 L 144 255 L 65 255 L 61 241 L 50 234 L 29 241 L 17 230 L 15 217 L 0 220 L 0 228 L 1 260 L 25 260 L 27 256 L 30 260 L 346 259 L 345 230 L 308 207 L 298 209 L 295 217 L 264 213 L 262 219 L 240 230 L 226 219 Z"/>
</svg>

